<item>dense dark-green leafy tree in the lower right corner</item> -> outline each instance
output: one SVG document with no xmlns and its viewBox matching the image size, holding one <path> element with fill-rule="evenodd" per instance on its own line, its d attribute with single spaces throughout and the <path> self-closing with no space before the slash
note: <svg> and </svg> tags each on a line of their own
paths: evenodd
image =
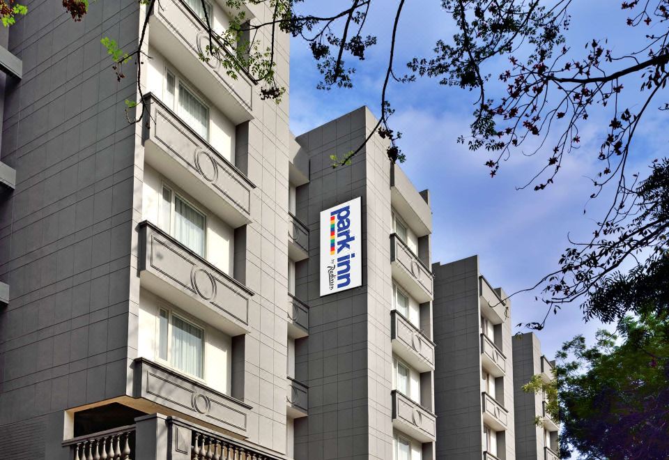
<svg viewBox="0 0 669 460">
<path fill-rule="evenodd" d="M 588 459 L 669 458 L 669 317 L 626 316 L 597 343 L 558 353 L 561 451 Z"/>
</svg>

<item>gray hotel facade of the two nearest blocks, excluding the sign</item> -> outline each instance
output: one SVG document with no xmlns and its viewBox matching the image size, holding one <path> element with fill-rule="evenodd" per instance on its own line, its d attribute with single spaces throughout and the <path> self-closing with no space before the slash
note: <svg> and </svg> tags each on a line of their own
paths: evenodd
<svg viewBox="0 0 669 460">
<path fill-rule="evenodd" d="M 215 26 L 224 5 L 206 3 Z M 139 85 L 100 45 L 137 46 L 137 1 L 72 22 L 36 0 L 8 29 L 0 452 L 434 458 L 429 193 L 378 136 L 332 169 L 374 128 L 369 110 L 295 138 L 288 92 L 261 100 L 249 76 L 199 59 L 201 8 L 155 8 Z M 123 101 L 140 98 L 128 123 Z M 357 198 L 362 285 L 321 296 L 319 215 Z"/>
</svg>

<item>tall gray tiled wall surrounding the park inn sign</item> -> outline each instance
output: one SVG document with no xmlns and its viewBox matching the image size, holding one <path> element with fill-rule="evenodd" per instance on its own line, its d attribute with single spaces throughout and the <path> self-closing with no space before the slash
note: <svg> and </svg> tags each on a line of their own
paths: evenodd
<svg viewBox="0 0 669 460">
<path fill-rule="evenodd" d="M 375 120 L 360 108 L 298 137 L 309 153 L 309 262 L 297 292 L 309 304 L 309 337 L 296 346 L 295 376 L 309 385 L 309 417 L 295 420 L 296 459 L 392 458 L 390 162 L 377 136 L 350 166 L 330 155 L 357 148 Z M 362 197 L 362 286 L 321 298 L 318 231 L 323 209 Z M 298 197 L 298 210 L 305 206 Z M 305 282 L 307 283 L 305 289 Z"/>
</svg>

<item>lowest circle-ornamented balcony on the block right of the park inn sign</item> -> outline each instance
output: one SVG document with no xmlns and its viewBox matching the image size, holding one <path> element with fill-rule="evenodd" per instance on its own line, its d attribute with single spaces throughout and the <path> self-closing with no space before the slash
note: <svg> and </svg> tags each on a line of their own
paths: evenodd
<svg viewBox="0 0 669 460">
<path fill-rule="evenodd" d="M 392 390 L 392 426 L 421 443 L 436 439 L 437 417 L 397 390 Z"/>
</svg>

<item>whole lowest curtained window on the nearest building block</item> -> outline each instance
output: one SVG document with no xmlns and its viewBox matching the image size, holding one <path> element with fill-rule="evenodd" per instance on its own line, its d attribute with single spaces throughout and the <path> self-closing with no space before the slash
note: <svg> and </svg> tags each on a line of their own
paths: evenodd
<svg viewBox="0 0 669 460">
<path fill-rule="evenodd" d="M 158 315 L 157 349 L 172 367 L 203 378 L 204 330 L 166 308 Z"/>
</svg>

